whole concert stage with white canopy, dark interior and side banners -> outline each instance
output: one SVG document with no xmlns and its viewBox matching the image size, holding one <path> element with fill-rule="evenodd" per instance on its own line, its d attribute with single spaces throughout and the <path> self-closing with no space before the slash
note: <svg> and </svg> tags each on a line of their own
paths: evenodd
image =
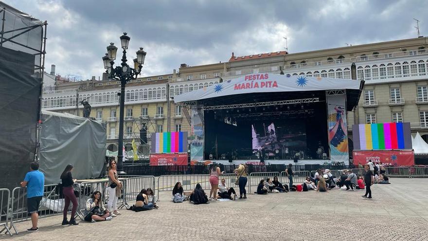
<svg viewBox="0 0 428 241">
<path fill-rule="evenodd" d="M 174 101 L 191 112 L 193 163 L 221 158 L 216 162 L 289 164 L 297 159 L 297 165 L 348 165 L 346 116 L 363 85 L 358 80 L 250 74 L 180 94 Z"/>
</svg>

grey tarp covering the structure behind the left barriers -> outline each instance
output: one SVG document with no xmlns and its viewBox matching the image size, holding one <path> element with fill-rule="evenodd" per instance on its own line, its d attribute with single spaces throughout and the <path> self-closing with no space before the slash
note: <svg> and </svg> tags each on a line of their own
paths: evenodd
<svg viewBox="0 0 428 241">
<path fill-rule="evenodd" d="M 40 170 L 45 184 L 60 181 L 67 164 L 73 178 L 98 177 L 106 156 L 106 129 L 97 121 L 68 113 L 42 111 Z"/>
</svg>

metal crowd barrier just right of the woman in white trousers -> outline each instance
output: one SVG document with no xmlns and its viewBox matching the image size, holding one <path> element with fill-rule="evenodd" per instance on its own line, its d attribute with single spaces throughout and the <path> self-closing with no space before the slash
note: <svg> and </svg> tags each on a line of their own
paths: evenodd
<svg viewBox="0 0 428 241">
<path fill-rule="evenodd" d="M 124 180 L 124 204 L 129 207 L 128 202 L 135 201 L 137 195 L 144 188 L 152 188 L 153 195 L 155 194 L 155 177 L 154 176 L 136 176 L 125 178 Z M 159 198 L 159 197 L 158 197 Z"/>
</svg>

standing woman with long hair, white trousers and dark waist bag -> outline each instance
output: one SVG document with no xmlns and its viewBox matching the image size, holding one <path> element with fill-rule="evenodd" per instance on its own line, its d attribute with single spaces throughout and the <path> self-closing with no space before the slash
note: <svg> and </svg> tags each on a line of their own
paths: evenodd
<svg viewBox="0 0 428 241">
<path fill-rule="evenodd" d="M 121 196 L 122 183 L 118 180 L 116 171 L 117 162 L 116 159 L 111 159 L 108 163 L 108 210 L 114 210 L 111 214 L 112 217 L 116 217 L 121 213 L 117 211 L 117 200 Z"/>
</svg>

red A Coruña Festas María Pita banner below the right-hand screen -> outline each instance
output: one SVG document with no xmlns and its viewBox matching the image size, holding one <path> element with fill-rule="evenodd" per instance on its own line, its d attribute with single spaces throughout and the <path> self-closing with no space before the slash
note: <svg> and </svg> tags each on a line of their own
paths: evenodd
<svg viewBox="0 0 428 241">
<path fill-rule="evenodd" d="M 354 165 L 364 165 L 369 160 L 394 167 L 414 165 L 413 150 L 354 150 L 353 157 Z"/>
</svg>

